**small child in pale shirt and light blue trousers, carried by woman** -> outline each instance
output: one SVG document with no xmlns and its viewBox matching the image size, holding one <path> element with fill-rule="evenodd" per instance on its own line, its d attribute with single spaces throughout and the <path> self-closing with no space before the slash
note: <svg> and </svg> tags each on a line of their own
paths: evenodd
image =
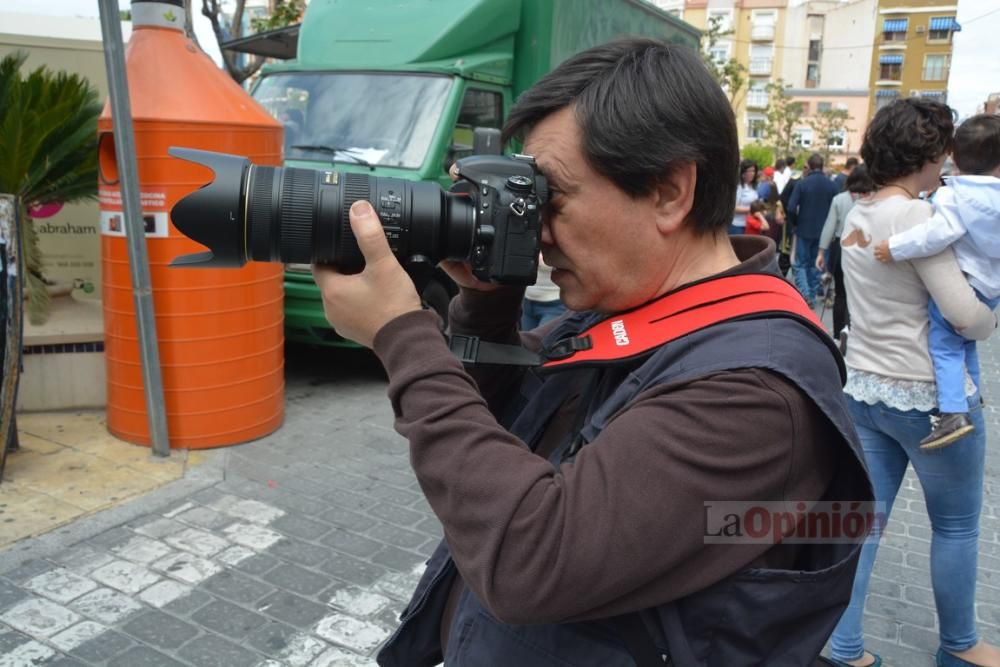
<svg viewBox="0 0 1000 667">
<path fill-rule="evenodd" d="M 955 132 L 955 164 L 961 175 L 948 179 L 934 195 L 934 216 L 927 222 L 882 241 L 881 261 L 904 261 L 936 255 L 948 246 L 979 299 L 995 309 L 1000 303 L 1000 116 L 979 115 Z M 976 342 L 948 324 L 933 300 L 928 305 L 928 333 L 938 410 L 923 449 L 946 447 L 974 430 L 965 397 L 965 373 L 979 385 Z"/>
</svg>

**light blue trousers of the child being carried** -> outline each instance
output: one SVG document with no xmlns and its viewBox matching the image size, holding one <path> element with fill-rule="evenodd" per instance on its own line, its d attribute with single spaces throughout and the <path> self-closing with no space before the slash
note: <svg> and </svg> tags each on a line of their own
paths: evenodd
<svg viewBox="0 0 1000 667">
<path fill-rule="evenodd" d="M 1000 299 L 987 299 L 978 291 L 979 300 L 996 309 Z M 965 369 L 969 369 L 972 381 L 979 388 L 979 352 L 976 341 L 969 340 L 955 331 L 938 310 L 934 299 L 927 304 L 930 315 L 930 330 L 927 346 L 931 361 L 934 362 L 934 380 L 937 382 L 938 410 L 941 412 L 965 412 Z"/>
</svg>

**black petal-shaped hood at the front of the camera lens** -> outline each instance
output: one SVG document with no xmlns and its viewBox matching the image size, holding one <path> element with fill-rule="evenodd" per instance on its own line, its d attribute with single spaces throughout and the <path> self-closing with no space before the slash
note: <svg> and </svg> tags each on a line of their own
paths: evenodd
<svg viewBox="0 0 1000 667">
<path fill-rule="evenodd" d="M 250 161 L 237 155 L 171 147 L 170 155 L 208 167 L 214 178 L 170 210 L 174 226 L 208 247 L 208 252 L 182 255 L 171 266 L 240 267 L 247 262 L 246 178 Z"/>
</svg>

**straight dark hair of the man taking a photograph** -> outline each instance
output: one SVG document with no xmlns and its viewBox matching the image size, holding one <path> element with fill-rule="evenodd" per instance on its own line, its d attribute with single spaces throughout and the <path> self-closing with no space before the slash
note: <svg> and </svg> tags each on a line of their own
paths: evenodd
<svg viewBox="0 0 1000 667">
<path fill-rule="evenodd" d="M 623 39 L 566 60 L 525 91 L 503 139 L 523 139 L 572 107 L 582 152 L 597 173 L 631 197 L 649 194 L 671 170 L 697 170 L 688 224 L 698 233 L 733 219 L 739 164 L 736 119 L 698 53 L 652 39 Z"/>
</svg>

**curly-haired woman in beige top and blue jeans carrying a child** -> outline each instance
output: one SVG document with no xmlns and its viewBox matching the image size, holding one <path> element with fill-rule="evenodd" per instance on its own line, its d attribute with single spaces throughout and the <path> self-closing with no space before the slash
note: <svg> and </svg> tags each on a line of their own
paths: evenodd
<svg viewBox="0 0 1000 667">
<path fill-rule="evenodd" d="M 1000 667 L 1000 651 L 980 641 L 975 622 L 979 515 L 986 433 L 979 394 L 967 382 L 974 430 L 948 447 L 920 442 L 936 413 L 934 366 L 928 351 L 928 301 L 966 338 L 983 340 L 996 326 L 990 308 L 966 281 L 955 253 L 882 263 L 874 250 L 893 234 L 931 218 L 918 198 L 933 190 L 952 147 L 951 109 L 918 98 L 881 109 L 865 133 L 862 157 L 878 191 L 858 201 L 841 237 L 851 310 L 844 391 L 864 446 L 875 496 L 892 508 L 907 464 L 923 487 L 933 529 L 931 580 L 940 628 L 941 667 Z M 878 543 L 862 550 L 851 604 L 831 640 L 830 664 L 881 665 L 864 650 L 862 617 Z"/>
</svg>

